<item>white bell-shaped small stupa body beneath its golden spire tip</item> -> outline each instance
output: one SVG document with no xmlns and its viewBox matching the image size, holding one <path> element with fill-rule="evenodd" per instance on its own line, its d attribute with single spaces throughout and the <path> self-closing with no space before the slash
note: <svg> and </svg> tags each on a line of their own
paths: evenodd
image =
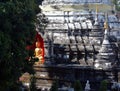
<svg viewBox="0 0 120 91">
<path fill-rule="evenodd" d="M 112 67 L 111 64 L 114 63 L 114 61 L 115 61 L 114 49 L 112 48 L 112 45 L 109 41 L 108 29 L 105 29 L 102 46 L 101 49 L 99 50 L 94 66 L 99 69 L 111 68 Z"/>
</svg>

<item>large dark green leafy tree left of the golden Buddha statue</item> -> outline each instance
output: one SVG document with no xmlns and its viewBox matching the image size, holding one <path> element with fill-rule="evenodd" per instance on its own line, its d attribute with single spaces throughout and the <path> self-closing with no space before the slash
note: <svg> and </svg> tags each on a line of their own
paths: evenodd
<svg viewBox="0 0 120 91">
<path fill-rule="evenodd" d="M 25 47 L 34 41 L 40 12 L 35 1 L 0 0 L 0 91 L 18 91 L 19 77 L 34 73 L 33 51 Z"/>
</svg>

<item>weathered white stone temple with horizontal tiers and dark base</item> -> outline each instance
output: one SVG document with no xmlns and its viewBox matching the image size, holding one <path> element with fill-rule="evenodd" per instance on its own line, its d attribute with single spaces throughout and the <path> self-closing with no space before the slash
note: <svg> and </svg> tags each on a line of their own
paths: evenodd
<svg viewBox="0 0 120 91">
<path fill-rule="evenodd" d="M 89 80 L 97 91 L 102 80 L 120 80 L 120 22 L 109 12 L 110 0 L 44 0 L 40 7 L 48 23 L 42 35 L 45 62 L 35 66 L 38 87 L 50 88 L 56 79 L 60 88 Z"/>
</svg>

